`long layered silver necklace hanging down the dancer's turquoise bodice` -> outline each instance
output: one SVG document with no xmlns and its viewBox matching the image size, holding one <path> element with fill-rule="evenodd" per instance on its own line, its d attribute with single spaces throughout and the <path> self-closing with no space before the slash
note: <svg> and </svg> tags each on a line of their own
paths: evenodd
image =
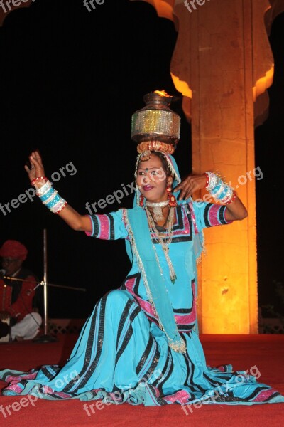
<svg viewBox="0 0 284 427">
<path fill-rule="evenodd" d="M 159 202 L 159 204 L 161 204 L 161 203 L 165 203 L 164 206 L 168 205 L 168 201 Z M 148 224 L 149 224 L 149 227 L 150 227 L 150 231 L 151 231 L 151 233 L 153 233 L 153 238 L 155 238 L 155 240 L 158 240 L 158 242 L 160 243 L 160 246 L 163 249 L 163 253 L 165 255 L 165 260 L 167 261 L 168 268 L 170 270 L 170 281 L 172 283 L 175 283 L 175 280 L 176 280 L 177 276 L 175 274 L 175 269 L 173 268 L 173 263 L 170 260 L 170 257 L 168 255 L 168 253 L 169 253 L 169 245 L 170 245 L 170 243 L 172 241 L 172 238 L 173 238 L 173 221 L 174 221 L 174 218 L 175 218 L 175 208 L 174 207 L 170 207 L 170 211 L 169 211 L 169 214 L 168 214 L 168 220 L 167 220 L 168 226 L 166 227 L 165 233 L 159 233 L 158 230 L 157 230 L 157 228 L 156 228 L 156 226 L 155 226 L 155 221 L 153 220 L 151 212 L 148 209 L 148 206 L 151 207 L 151 204 L 150 204 L 150 202 L 147 201 L 146 202 L 146 208 L 145 208 L 145 210 L 146 210 L 146 214 L 147 214 L 147 218 L 148 218 Z M 154 207 L 154 209 L 155 209 L 155 207 Z M 163 214 L 162 214 L 162 219 L 163 219 Z M 153 250 L 154 250 L 154 253 L 155 253 L 155 259 L 156 259 L 156 261 L 158 263 L 158 266 L 160 268 L 160 273 L 161 273 L 161 275 L 163 275 L 163 270 L 160 267 L 160 263 L 159 263 L 159 260 L 158 260 L 158 255 L 157 255 L 157 252 L 155 250 L 155 245 L 153 244 L 153 241 L 152 241 L 152 245 L 153 245 Z"/>
</svg>

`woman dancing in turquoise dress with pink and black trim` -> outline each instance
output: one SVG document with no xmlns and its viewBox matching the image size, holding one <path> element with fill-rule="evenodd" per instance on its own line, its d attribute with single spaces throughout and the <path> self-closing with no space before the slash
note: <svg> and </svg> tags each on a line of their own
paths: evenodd
<svg viewBox="0 0 284 427">
<path fill-rule="evenodd" d="M 132 267 L 121 287 L 97 302 L 63 367 L 1 371 L 9 383 L 2 394 L 146 406 L 284 402 L 245 371 L 207 367 L 197 332 L 202 229 L 241 220 L 246 208 L 212 172 L 180 182 L 168 144 L 150 141 L 138 148 L 133 209 L 93 216 L 72 209 L 45 178 L 40 154 L 31 154 L 26 172 L 43 204 L 74 230 L 124 238 Z M 172 186 L 180 191 L 178 200 Z M 218 203 L 192 201 L 192 192 L 204 187 Z"/>
</svg>

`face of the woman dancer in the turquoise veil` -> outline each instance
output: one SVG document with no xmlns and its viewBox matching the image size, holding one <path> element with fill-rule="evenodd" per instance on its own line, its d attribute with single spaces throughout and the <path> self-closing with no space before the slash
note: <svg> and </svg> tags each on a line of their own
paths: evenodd
<svg viewBox="0 0 284 427">
<path fill-rule="evenodd" d="M 141 194 L 148 201 L 165 201 L 168 199 L 166 188 L 172 184 L 171 178 L 166 176 L 160 157 L 151 154 L 147 162 L 140 162 L 137 170 L 137 185 Z"/>
</svg>

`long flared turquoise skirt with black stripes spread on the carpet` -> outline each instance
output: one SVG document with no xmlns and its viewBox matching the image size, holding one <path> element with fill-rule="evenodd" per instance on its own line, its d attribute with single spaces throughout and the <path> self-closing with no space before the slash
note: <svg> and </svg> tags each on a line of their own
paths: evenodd
<svg viewBox="0 0 284 427">
<path fill-rule="evenodd" d="M 0 371 L 8 383 L 2 394 L 145 406 L 284 402 L 256 375 L 233 371 L 231 365 L 207 367 L 197 334 L 182 337 L 185 354 L 168 347 L 164 332 L 129 292 L 112 290 L 95 305 L 63 367 Z"/>
</svg>

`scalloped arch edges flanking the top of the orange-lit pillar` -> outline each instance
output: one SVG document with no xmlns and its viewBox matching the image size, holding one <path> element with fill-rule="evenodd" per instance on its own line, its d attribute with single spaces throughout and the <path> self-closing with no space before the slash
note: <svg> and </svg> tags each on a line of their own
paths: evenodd
<svg viewBox="0 0 284 427">
<path fill-rule="evenodd" d="M 137 0 L 130 0 L 137 1 Z M 178 92 L 184 96 L 183 110 L 187 120 L 191 120 L 191 98 L 192 89 L 190 81 L 180 67 L 179 60 L 182 55 L 180 51 L 184 49 L 186 28 L 185 19 L 188 20 L 188 12 L 181 9 L 184 6 L 184 0 L 141 0 L 151 4 L 157 11 L 158 16 L 170 19 L 175 23 L 175 28 L 179 32 L 178 41 L 173 52 L 170 74 L 173 83 Z M 204 0 L 205 2 L 205 0 Z M 271 25 L 276 16 L 284 11 L 283 0 L 250 0 L 251 2 L 251 24 L 253 26 L 253 39 L 251 46 L 254 53 L 253 61 L 253 102 L 255 126 L 261 125 L 268 115 L 268 93 L 266 90 L 273 83 L 274 61 L 268 36 L 271 31 Z M 192 3 L 195 3 L 193 1 Z M 249 1 L 248 1 L 249 3 Z M 196 4 L 196 3 L 195 3 Z M 200 3 L 201 5 L 201 3 Z M 191 6 L 192 7 L 192 6 Z M 195 6 L 201 7 L 201 6 Z M 192 8 L 192 13 L 194 9 Z M 179 31 L 180 28 L 180 31 Z"/>
</svg>

